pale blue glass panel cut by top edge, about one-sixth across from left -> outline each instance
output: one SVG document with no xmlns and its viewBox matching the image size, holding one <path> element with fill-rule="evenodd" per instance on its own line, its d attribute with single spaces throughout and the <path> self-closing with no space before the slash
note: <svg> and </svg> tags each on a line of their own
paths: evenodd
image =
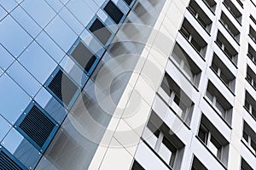
<svg viewBox="0 0 256 170">
<path fill-rule="evenodd" d="M 55 16 L 55 11 L 44 1 L 25 0 L 21 7 L 38 22 L 39 26 L 44 28 Z"/>
</svg>

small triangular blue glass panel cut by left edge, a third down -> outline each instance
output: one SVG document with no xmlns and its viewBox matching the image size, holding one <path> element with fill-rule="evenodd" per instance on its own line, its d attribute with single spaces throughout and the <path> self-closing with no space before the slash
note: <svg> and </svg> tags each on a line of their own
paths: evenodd
<svg viewBox="0 0 256 170">
<path fill-rule="evenodd" d="M 1 45 L 0 45 L 0 67 L 3 70 L 6 70 L 10 64 L 12 64 L 15 61 L 15 58 L 11 56 L 11 54 L 6 51 Z"/>
</svg>

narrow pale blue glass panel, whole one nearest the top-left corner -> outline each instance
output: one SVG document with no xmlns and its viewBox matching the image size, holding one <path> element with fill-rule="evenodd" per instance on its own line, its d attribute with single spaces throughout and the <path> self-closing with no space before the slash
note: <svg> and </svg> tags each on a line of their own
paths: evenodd
<svg viewBox="0 0 256 170">
<path fill-rule="evenodd" d="M 38 24 L 20 7 L 15 8 L 11 15 L 32 37 L 36 37 L 42 30 L 40 26 L 38 26 Z"/>
</svg>

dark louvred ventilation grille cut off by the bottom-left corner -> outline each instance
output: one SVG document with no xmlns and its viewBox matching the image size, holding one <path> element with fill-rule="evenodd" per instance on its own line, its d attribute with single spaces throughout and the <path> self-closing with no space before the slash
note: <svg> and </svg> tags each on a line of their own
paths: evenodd
<svg viewBox="0 0 256 170">
<path fill-rule="evenodd" d="M 0 169 L 3 170 L 22 170 L 15 161 L 13 161 L 9 156 L 7 156 L 3 150 L 0 151 Z"/>
</svg>

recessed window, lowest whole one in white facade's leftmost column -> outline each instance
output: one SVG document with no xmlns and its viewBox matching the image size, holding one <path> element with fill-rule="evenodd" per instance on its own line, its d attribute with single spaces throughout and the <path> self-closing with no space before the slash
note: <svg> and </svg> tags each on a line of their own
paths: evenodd
<svg viewBox="0 0 256 170">
<path fill-rule="evenodd" d="M 151 111 L 143 140 L 170 169 L 180 169 L 184 144 L 160 117 Z"/>
</svg>

